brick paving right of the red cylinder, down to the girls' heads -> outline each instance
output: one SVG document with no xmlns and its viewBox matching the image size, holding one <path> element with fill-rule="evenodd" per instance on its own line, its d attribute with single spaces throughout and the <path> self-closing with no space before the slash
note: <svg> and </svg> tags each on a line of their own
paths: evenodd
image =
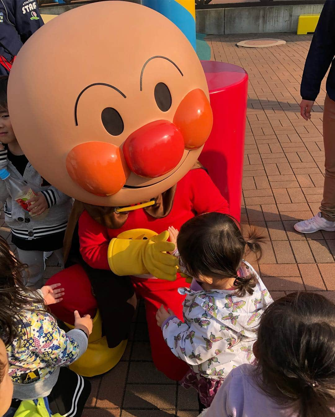
<svg viewBox="0 0 335 417">
<path fill-rule="evenodd" d="M 287 43 L 251 49 L 235 46 L 246 35 L 209 40 L 214 59 L 249 73 L 242 221 L 267 236 L 258 266 L 273 296 L 307 289 L 334 299 L 335 234 L 302 235 L 293 229 L 297 219 L 319 211 L 322 199 L 325 81 L 306 122 L 299 114 L 299 85 L 312 36 L 269 37 Z"/>
</svg>

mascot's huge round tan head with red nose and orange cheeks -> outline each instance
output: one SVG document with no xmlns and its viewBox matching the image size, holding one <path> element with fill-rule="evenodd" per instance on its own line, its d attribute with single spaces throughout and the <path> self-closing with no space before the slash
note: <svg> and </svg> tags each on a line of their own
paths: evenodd
<svg viewBox="0 0 335 417">
<path fill-rule="evenodd" d="M 81 6 L 39 29 L 15 60 L 8 106 L 37 171 L 99 206 L 147 201 L 173 186 L 213 122 L 183 33 L 124 1 Z"/>
</svg>

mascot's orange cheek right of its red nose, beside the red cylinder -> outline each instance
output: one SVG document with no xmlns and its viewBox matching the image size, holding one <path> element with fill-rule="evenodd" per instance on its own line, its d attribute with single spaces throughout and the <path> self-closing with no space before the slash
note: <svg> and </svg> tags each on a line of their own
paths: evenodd
<svg viewBox="0 0 335 417">
<path fill-rule="evenodd" d="M 173 124 L 183 135 L 185 149 L 203 146 L 213 126 L 211 105 L 203 90 L 196 88 L 185 95 L 175 112 Z"/>
</svg>

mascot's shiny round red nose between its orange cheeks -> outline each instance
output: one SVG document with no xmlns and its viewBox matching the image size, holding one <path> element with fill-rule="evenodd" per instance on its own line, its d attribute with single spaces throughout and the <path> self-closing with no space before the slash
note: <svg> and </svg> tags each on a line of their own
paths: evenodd
<svg viewBox="0 0 335 417">
<path fill-rule="evenodd" d="M 157 120 L 131 133 L 122 150 L 131 171 L 156 178 L 178 165 L 184 147 L 180 130 L 167 120 Z"/>
</svg>

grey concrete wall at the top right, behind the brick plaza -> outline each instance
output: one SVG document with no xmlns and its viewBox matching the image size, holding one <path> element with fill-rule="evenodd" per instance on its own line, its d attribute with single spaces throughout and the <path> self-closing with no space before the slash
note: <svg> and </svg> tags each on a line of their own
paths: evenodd
<svg viewBox="0 0 335 417">
<path fill-rule="evenodd" d="M 320 13 L 322 7 L 315 4 L 195 10 L 196 31 L 211 35 L 296 32 L 299 15 Z"/>
</svg>

